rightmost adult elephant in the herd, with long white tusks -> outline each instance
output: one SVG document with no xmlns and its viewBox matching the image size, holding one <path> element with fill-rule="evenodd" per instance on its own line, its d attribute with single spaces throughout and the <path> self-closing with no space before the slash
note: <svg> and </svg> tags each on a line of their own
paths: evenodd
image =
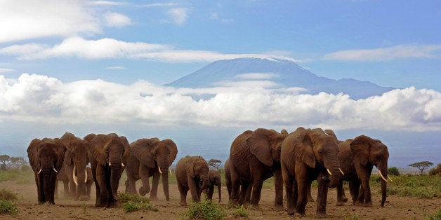
<svg viewBox="0 0 441 220">
<path fill-rule="evenodd" d="M 386 177 L 388 177 L 388 147 L 381 143 L 379 139 L 372 139 L 371 137 L 360 135 L 355 137 L 353 142 L 350 143 L 350 150 L 352 151 L 358 179 L 360 179 L 362 185 L 355 205 L 372 206 L 369 179 L 371 177 L 372 168 L 376 166 L 381 176 L 381 207 L 384 207 L 388 182 L 386 180 Z M 358 187 L 355 186 L 354 192 L 358 192 Z"/>
</svg>

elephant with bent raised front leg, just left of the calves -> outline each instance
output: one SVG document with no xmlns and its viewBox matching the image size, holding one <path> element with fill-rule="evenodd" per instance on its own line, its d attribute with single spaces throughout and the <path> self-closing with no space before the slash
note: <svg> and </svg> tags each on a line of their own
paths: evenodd
<svg viewBox="0 0 441 220">
<path fill-rule="evenodd" d="M 143 186 L 140 187 L 140 195 L 150 191 L 149 177 L 153 177 L 150 200 L 157 200 L 159 176 L 162 177 L 162 187 L 166 200 L 169 196 L 168 170 L 176 159 L 178 148 L 171 139 L 159 140 L 156 137 L 150 139 L 138 139 L 130 144 L 131 155 L 127 160 L 127 193 L 136 193 L 136 181 L 141 179 Z"/>
</svg>

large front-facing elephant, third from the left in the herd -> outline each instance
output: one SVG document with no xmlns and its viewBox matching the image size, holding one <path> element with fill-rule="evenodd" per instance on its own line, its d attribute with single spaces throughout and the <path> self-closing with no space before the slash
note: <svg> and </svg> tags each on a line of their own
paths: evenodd
<svg viewBox="0 0 441 220">
<path fill-rule="evenodd" d="M 119 179 L 130 152 L 130 144 L 124 136 L 100 134 L 91 140 L 89 153 L 96 186 L 95 207 L 112 207 L 116 204 Z"/>
</svg>

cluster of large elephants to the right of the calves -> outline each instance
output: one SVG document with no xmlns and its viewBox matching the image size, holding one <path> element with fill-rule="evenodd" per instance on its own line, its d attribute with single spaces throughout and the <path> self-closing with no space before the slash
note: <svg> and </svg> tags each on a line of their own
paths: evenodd
<svg viewBox="0 0 441 220">
<path fill-rule="evenodd" d="M 381 207 L 386 201 L 388 148 L 378 139 L 360 135 L 339 141 L 332 130 L 297 128 L 288 134 L 258 128 L 236 137 L 225 162 L 225 184 L 230 202 L 258 207 L 263 181 L 274 177 L 275 209 L 305 215 L 312 200 L 310 187 L 317 180 L 316 217 L 326 217 L 328 188 L 337 188 L 337 205 L 345 198 L 343 182 L 349 182 L 354 205 L 372 206 L 369 178 L 374 165 L 381 175 Z M 361 188 L 360 188 L 361 185 Z"/>
</svg>

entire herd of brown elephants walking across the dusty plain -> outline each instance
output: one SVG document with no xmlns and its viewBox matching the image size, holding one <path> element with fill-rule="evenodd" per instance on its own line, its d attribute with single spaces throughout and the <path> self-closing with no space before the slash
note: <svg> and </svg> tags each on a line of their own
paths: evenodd
<svg viewBox="0 0 441 220">
<path fill-rule="evenodd" d="M 66 132 L 60 138 L 33 139 L 27 149 L 29 163 L 37 184 L 38 202 L 55 204 L 57 181 L 63 181 L 65 198 L 89 200 L 91 184 L 96 186 L 96 207 L 112 207 L 117 202 L 117 188 L 126 170 L 126 193 L 150 193 L 157 200 L 159 178 L 169 200 L 169 167 L 178 148 L 171 139 L 138 139 L 129 144 L 124 136 L 86 135 L 75 137 Z M 275 209 L 288 214 L 305 214 L 312 200 L 312 181 L 318 182 L 317 217 L 326 216 L 328 188 L 337 188 L 337 205 L 345 198 L 342 181 L 349 182 L 353 204 L 372 206 L 369 178 L 374 165 L 381 175 L 381 206 L 386 201 L 388 148 L 378 139 L 360 135 L 340 141 L 332 130 L 297 128 L 277 132 L 264 128 L 247 130 L 231 144 L 225 162 L 225 183 L 232 204 L 258 207 L 263 181 L 274 177 Z M 88 167 L 88 163 L 91 167 Z M 152 187 L 149 178 L 152 177 Z M 201 156 L 186 156 L 176 163 L 176 181 L 180 205 L 187 205 L 187 192 L 199 202 L 204 192 L 211 199 L 218 186 L 221 201 L 221 176 Z M 360 188 L 361 186 L 361 188 Z"/>
</svg>

